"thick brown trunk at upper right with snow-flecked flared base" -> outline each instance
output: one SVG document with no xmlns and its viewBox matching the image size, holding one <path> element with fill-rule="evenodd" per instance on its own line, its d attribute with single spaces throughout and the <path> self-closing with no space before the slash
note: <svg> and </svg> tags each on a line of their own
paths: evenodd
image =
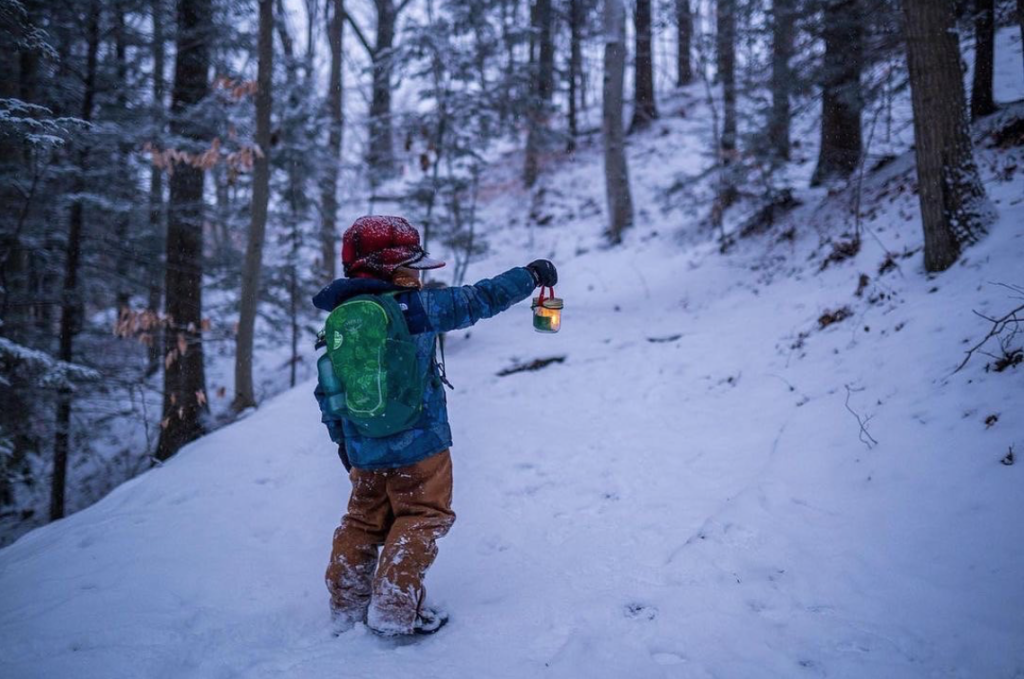
<svg viewBox="0 0 1024 679">
<path fill-rule="evenodd" d="M 925 268 L 941 271 L 994 216 L 971 146 L 952 7 L 904 0 Z"/>
</svg>

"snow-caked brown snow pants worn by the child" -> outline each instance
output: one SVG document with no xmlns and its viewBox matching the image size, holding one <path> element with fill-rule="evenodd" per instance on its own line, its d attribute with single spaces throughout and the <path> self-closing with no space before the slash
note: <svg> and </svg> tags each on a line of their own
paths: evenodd
<svg viewBox="0 0 1024 679">
<path fill-rule="evenodd" d="M 452 455 L 397 469 L 353 468 L 349 477 L 352 496 L 327 567 L 332 612 L 341 623 L 409 634 L 423 602 L 423 577 L 437 556 L 434 541 L 455 522 Z"/>
</svg>

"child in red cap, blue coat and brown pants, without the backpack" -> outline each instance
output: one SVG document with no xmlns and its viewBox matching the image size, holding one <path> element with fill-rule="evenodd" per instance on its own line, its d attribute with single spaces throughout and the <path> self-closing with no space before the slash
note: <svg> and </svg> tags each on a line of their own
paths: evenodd
<svg viewBox="0 0 1024 679">
<path fill-rule="evenodd" d="M 558 274 L 551 262 L 537 260 L 473 286 L 421 289 L 419 271 L 444 264 L 427 256 L 419 232 L 401 217 L 355 220 L 343 238 L 342 261 L 346 278 L 324 288 L 313 304 L 330 312 L 356 295 L 397 292 L 417 370 L 430 379 L 415 425 L 377 438 L 332 415 L 317 385 L 323 421 L 352 481 L 327 569 L 332 614 L 340 629 L 366 622 L 382 634 L 429 633 L 444 618 L 423 606 L 423 578 L 437 554 L 435 541 L 455 522 L 452 430 L 436 338 L 504 311 L 538 286 L 555 285 Z"/>
</svg>

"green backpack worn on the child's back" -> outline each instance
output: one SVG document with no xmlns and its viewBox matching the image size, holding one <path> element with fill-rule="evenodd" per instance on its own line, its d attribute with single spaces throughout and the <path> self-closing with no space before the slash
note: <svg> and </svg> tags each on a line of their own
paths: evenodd
<svg viewBox="0 0 1024 679">
<path fill-rule="evenodd" d="M 324 326 L 327 356 L 344 388 L 344 417 L 373 438 L 416 423 L 428 379 L 417 370 L 416 344 L 394 294 L 353 297 Z"/>
</svg>

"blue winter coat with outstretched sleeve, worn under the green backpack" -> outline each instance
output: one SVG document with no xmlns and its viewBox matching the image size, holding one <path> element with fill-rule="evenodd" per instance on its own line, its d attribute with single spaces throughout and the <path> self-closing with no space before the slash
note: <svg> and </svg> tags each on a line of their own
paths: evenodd
<svg viewBox="0 0 1024 679">
<path fill-rule="evenodd" d="M 481 319 L 504 311 L 534 290 L 534 277 L 525 268 L 513 268 L 476 285 L 438 290 L 409 290 L 373 279 L 338 279 L 313 297 L 313 305 L 324 311 L 356 295 L 381 294 L 407 290 L 395 297 L 416 341 L 418 368 L 433 376 L 427 380 L 423 395 L 423 414 L 407 431 L 371 438 L 362 436 L 344 418 L 334 418 L 325 411 L 326 399 L 319 385 L 314 395 L 321 407 L 322 420 L 331 440 L 343 444 L 351 465 L 358 469 L 390 469 L 403 467 L 436 455 L 452 445 L 447 404 L 437 364 L 434 342 L 439 333 L 469 328 Z"/>
</svg>

